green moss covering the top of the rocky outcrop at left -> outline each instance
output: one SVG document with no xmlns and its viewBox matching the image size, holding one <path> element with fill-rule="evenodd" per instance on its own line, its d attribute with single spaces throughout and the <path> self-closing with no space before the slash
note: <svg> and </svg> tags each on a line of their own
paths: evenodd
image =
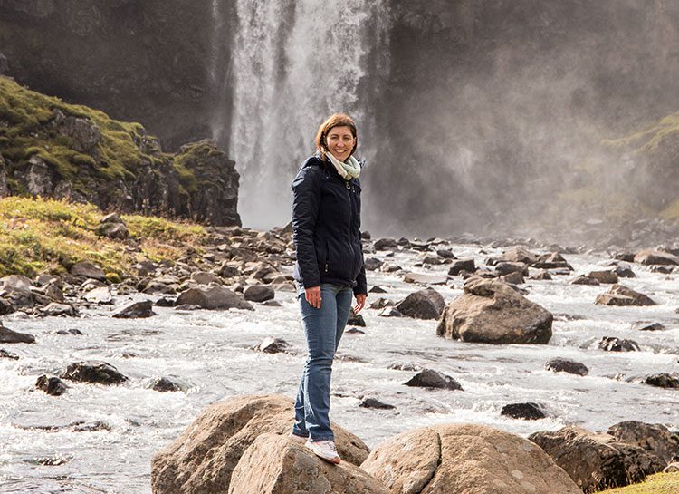
<svg viewBox="0 0 679 494">
<path fill-rule="evenodd" d="M 101 139 L 95 152 L 73 149 L 72 138 L 51 125 L 56 111 L 67 117 L 87 119 L 99 128 Z M 144 141 L 152 145 L 139 146 Z M 91 192 L 85 180 L 88 176 L 97 181 L 134 179 L 142 161 L 158 165 L 162 160 L 171 159 L 159 152 L 155 138 L 148 137 L 139 123 L 110 119 L 102 111 L 30 91 L 2 76 L 0 150 L 11 163 L 10 171 L 25 168 L 31 157 L 37 155 L 85 195 Z M 14 190 L 16 192 L 21 190 Z"/>
</svg>

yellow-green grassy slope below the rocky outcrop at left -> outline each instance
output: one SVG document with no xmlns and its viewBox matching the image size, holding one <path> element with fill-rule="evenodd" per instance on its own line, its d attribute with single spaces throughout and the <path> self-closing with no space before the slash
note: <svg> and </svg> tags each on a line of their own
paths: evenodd
<svg viewBox="0 0 679 494">
<path fill-rule="evenodd" d="M 102 216 L 94 206 L 63 200 L 0 199 L 0 276 L 63 274 L 85 260 L 116 280 L 142 259 L 176 260 L 189 249 L 200 250 L 207 235 L 192 223 L 124 215 L 130 236 L 139 241 L 138 248 L 130 248 L 97 236 Z"/>
</svg>

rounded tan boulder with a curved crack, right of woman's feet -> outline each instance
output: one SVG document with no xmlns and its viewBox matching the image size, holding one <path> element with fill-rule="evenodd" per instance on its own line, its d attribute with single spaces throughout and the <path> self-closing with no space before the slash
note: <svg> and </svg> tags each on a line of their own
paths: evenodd
<svg viewBox="0 0 679 494">
<path fill-rule="evenodd" d="M 361 468 L 398 494 L 581 494 L 543 450 L 483 425 L 404 432 L 378 445 Z"/>
</svg>

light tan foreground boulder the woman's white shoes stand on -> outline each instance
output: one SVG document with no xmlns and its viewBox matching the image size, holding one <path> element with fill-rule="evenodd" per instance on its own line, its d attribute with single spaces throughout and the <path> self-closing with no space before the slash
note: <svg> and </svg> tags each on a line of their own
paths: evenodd
<svg viewBox="0 0 679 494">
<path fill-rule="evenodd" d="M 330 465 L 286 436 L 263 434 L 245 450 L 228 494 L 336 492 L 389 494 L 377 479 L 349 462 Z"/>
</svg>

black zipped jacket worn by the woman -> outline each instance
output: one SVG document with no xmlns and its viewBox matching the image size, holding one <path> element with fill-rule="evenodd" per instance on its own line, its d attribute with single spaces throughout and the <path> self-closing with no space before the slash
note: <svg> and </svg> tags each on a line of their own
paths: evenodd
<svg viewBox="0 0 679 494">
<path fill-rule="evenodd" d="M 350 286 L 368 295 L 360 242 L 360 182 L 339 176 L 330 162 L 311 156 L 292 181 L 294 277 L 305 288 Z"/>
</svg>

